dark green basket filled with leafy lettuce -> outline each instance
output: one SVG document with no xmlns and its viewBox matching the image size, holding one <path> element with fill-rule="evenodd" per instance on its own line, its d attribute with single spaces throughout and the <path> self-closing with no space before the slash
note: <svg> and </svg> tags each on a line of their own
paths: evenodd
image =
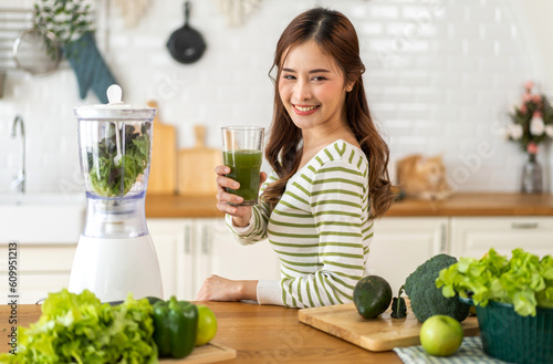
<svg viewBox="0 0 553 364">
<path fill-rule="evenodd" d="M 474 304 L 489 355 L 519 364 L 553 363 L 553 258 L 491 249 L 480 260 L 461 258 L 440 271 L 436 287 Z"/>
</svg>

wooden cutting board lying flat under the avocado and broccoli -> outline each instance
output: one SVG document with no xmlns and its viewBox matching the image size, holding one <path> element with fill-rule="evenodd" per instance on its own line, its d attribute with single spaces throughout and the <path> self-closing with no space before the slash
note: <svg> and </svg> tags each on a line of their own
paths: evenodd
<svg viewBox="0 0 553 364">
<path fill-rule="evenodd" d="M 406 303 L 408 310 L 405 319 L 390 318 L 392 310 L 388 310 L 376 319 L 365 320 L 357 313 L 354 303 L 347 303 L 300 310 L 299 320 L 366 350 L 385 352 L 397 346 L 420 345 L 419 331 L 422 324 L 410 311 L 408 301 Z M 476 316 L 467 318 L 461 325 L 466 336 L 477 336 L 480 332 Z"/>
</svg>

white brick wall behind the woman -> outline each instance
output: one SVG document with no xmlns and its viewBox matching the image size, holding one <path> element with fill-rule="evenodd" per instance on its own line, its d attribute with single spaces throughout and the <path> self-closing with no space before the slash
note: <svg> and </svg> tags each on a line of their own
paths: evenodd
<svg viewBox="0 0 553 364">
<path fill-rule="evenodd" d="M 219 146 L 222 125 L 269 126 L 273 86 L 267 74 L 275 42 L 288 22 L 314 3 L 265 0 L 244 25 L 228 28 L 216 0 L 192 1 L 190 24 L 204 34 L 208 49 L 191 65 L 176 63 L 165 48 L 184 22 L 180 1 L 152 1 L 133 29 L 125 29 L 118 10 L 109 9 L 101 48 L 124 87 L 124 100 L 157 100 L 161 121 L 177 126 L 179 147 L 192 146 L 192 126 L 199 123 L 208 126 L 208 145 Z M 394 159 L 442 154 L 459 190 L 519 189 L 524 156 L 501 139 L 497 126 L 508 121 L 522 83 L 536 79 L 536 72 L 511 2 L 316 3 L 343 11 L 358 31 L 369 104 Z M 79 98 L 66 67 L 45 77 L 9 72 L 0 100 L 0 193 L 9 190 L 17 168 L 18 144 L 9 132 L 18 113 L 27 126 L 29 191 L 79 189 L 72 108 L 94 103 L 92 94 Z M 540 159 L 551 169 L 551 152 L 542 150 Z"/>
</svg>

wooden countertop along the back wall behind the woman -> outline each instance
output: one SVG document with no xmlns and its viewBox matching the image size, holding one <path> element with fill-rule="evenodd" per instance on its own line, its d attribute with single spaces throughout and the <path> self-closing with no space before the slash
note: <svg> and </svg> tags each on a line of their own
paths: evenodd
<svg viewBox="0 0 553 364">
<path fill-rule="evenodd" d="M 215 196 L 147 196 L 148 218 L 222 217 Z M 445 201 L 403 199 L 386 217 L 553 216 L 553 195 L 462 193 Z"/>
</svg>

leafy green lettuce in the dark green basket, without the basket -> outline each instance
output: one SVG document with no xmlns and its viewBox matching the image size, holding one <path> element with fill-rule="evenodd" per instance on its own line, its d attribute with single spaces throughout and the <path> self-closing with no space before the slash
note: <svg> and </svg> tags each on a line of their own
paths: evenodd
<svg viewBox="0 0 553 364">
<path fill-rule="evenodd" d="M 535 316 L 535 308 L 553 309 L 553 258 L 514 249 L 509 260 L 494 249 L 480 260 L 461 258 L 458 263 L 440 271 L 436 287 L 442 294 L 456 292 L 474 304 L 486 306 L 488 301 L 511 303 L 522 316 Z"/>
</svg>

